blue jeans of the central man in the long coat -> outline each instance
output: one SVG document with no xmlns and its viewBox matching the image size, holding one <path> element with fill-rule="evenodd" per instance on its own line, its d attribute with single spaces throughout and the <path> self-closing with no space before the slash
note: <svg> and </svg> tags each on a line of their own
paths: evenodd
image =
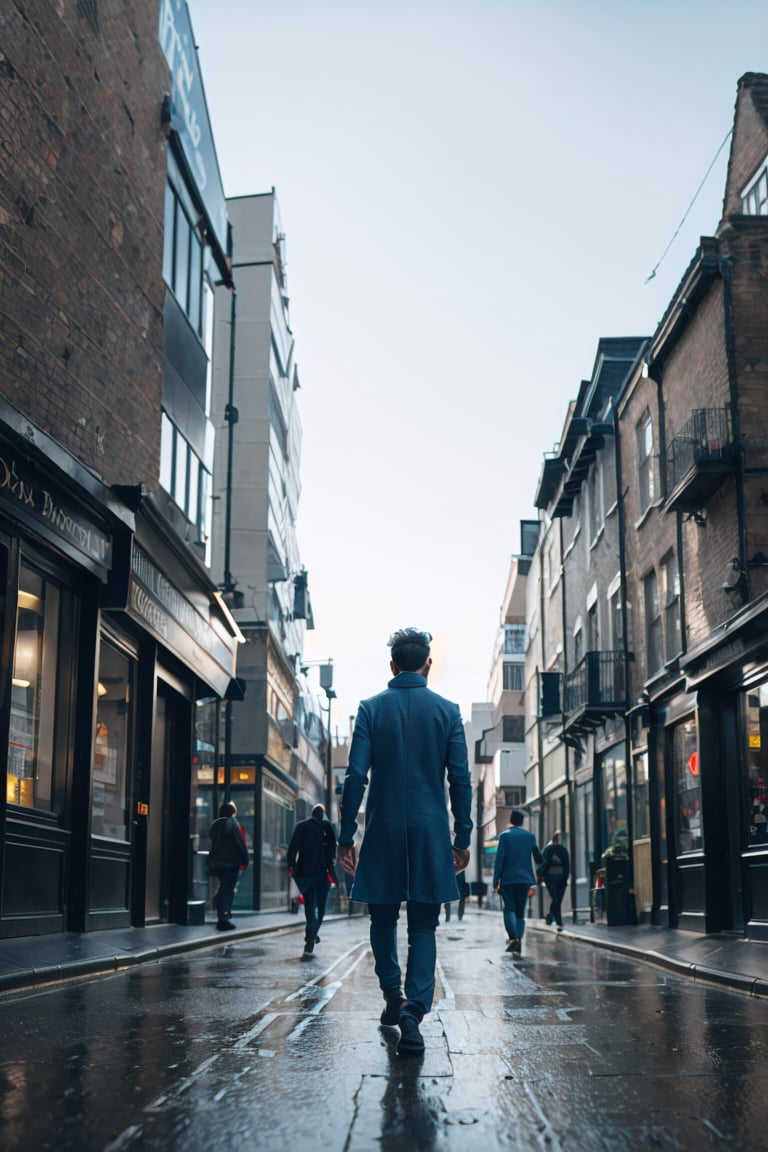
<svg viewBox="0 0 768 1152">
<path fill-rule="evenodd" d="M 371 915 L 371 950 L 379 987 L 385 996 L 395 995 L 403 987 L 397 960 L 397 920 L 400 904 L 368 904 Z M 416 1016 L 420 1023 L 432 1008 L 436 960 L 435 930 L 440 919 L 440 904 L 406 901 L 408 963 L 405 965 L 405 1000 L 403 1011 Z"/>
</svg>

